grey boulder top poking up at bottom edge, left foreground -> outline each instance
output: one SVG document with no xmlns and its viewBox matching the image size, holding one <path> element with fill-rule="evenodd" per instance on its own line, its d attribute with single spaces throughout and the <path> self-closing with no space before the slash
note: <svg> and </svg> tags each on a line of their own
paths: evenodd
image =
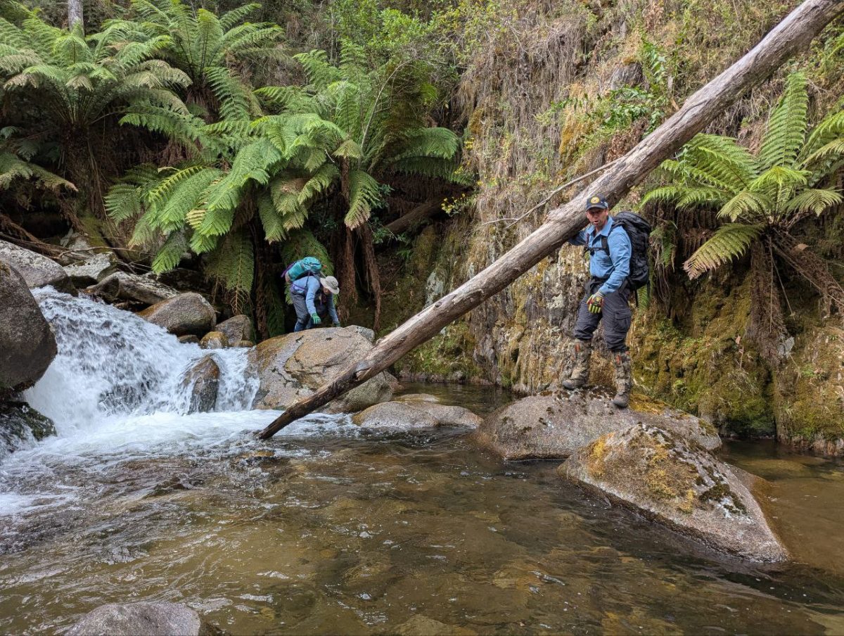
<svg viewBox="0 0 844 636">
<path fill-rule="evenodd" d="M 179 603 L 110 603 L 84 615 L 68 636 L 199 636 L 209 633 L 197 612 Z"/>
</svg>

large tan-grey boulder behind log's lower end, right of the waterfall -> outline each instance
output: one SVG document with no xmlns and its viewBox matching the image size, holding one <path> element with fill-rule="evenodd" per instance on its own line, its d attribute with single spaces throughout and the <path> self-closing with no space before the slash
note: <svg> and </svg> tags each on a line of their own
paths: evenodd
<svg viewBox="0 0 844 636">
<path fill-rule="evenodd" d="M 365 356 L 371 348 L 371 342 L 354 326 L 308 329 L 264 340 L 249 352 L 260 380 L 254 408 L 287 408 L 337 378 L 350 361 Z M 389 377 L 381 372 L 329 402 L 325 410 L 349 413 L 391 397 Z"/>
</svg>

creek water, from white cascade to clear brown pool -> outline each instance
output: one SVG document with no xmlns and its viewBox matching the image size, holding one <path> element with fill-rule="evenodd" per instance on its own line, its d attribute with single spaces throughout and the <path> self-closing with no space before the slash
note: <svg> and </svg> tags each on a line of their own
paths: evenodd
<svg viewBox="0 0 844 636">
<path fill-rule="evenodd" d="M 0 460 L 0 632 L 60 633 L 108 602 L 176 601 L 229 633 L 844 633 L 844 468 L 772 444 L 724 458 L 769 480 L 794 555 L 720 557 L 461 431 L 365 432 L 316 414 L 261 443 L 243 350 L 39 291 L 59 356 L 26 395 L 58 434 Z M 492 389 L 407 386 L 483 414 Z"/>
</svg>

